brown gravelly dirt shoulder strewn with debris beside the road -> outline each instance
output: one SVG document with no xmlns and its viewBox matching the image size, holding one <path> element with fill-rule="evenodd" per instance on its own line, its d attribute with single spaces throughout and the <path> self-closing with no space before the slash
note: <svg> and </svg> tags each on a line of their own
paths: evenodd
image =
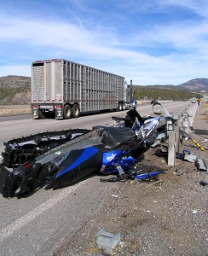
<svg viewBox="0 0 208 256">
<path fill-rule="evenodd" d="M 207 131 L 206 111 L 198 108 L 194 129 Z M 193 134 L 193 138 L 205 150 L 188 139 L 180 153 L 188 149 L 197 158 L 208 159 L 207 134 Z M 167 157 L 156 155 L 158 149 L 149 149 L 138 166 L 159 170 L 159 180 L 113 183 L 111 196 L 103 198 L 101 208 L 72 237 L 65 238 L 54 256 L 109 255 L 95 242 L 101 228 L 113 235 L 120 233 L 113 255 L 208 255 L 208 172 L 181 159 L 168 167 Z"/>
</svg>

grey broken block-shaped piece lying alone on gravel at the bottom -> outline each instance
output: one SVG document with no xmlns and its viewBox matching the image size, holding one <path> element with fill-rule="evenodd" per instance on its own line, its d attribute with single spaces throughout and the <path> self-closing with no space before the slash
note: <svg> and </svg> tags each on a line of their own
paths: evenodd
<svg viewBox="0 0 208 256">
<path fill-rule="evenodd" d="M 96 244 L 105 251 L 105 253 L 113 253 L 113 249 L 120 242 L 120 233 L 115 235 L 108 233 L 105 229 L 101 229 L 96 234 Z"/>
</svg>

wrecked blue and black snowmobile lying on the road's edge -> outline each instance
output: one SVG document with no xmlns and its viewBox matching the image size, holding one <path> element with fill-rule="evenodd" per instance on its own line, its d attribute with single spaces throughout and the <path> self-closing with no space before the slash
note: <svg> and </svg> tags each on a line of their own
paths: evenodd
<svg viewBox="0 0 208 256">
<path fill-rule="evenodd" d="M 40 147 L 43 141 L 40 135 L 38 139 L 36 137 L 36 143 L 10 142 L 13 150 L 33 147 L 32 150 L 42 152 L 38 151 L 37 155 L 24 161 L 26 154 L 23 151 L 19 154 L 19 163 L 16 161 L 18 154 L 13 160 L 11 154 L 9 160 L 4 157 L 4 164 L 0 165 L 0 193 L 4 197 L 20 198 L 42 187 L 58 189 L 76 183 L 92 172 L 118 173 L 122 177 L 132 170 L 136 159 L 153 143 L 147 139 L 157 130 L 159 121 L 159 116 L 144 120 L 132 110 L 124 119 L 124 127 L 95 126 L 92 131 L 80 132 L 77 129 L 77 135 L 67 131 L 65 137 L 56 138 L 52 146 L 51 137 L 48 137 Z M 25 148 L 18 149 L 20 146 Z M 13 172 L 9 172 L 6 165 L 13 166 Z"/>
</svg>

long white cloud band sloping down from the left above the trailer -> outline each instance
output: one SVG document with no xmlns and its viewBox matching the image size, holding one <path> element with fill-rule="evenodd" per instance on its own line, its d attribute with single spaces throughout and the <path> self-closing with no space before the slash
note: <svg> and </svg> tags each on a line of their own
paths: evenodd
<svg viewBox="0 0 208 256">
<path fill-rule="evenodd" d="M 5 19 L 6 20 L 6 19 Z M 0 29 L 1 41 L 20 41 L 33 47 L 54 47 L 55 49 L 76 50 L 81 54 L 100 55 L 101 58 L 133 58 L 154 61 L 149 55 L 120 49 L 118 39 L 111 32 L 99 29 L 87 31 L 84 27 L 64 22 L 8 20 Z M 117 47 L 118 46 L 118 47 Z"/>
</svg>

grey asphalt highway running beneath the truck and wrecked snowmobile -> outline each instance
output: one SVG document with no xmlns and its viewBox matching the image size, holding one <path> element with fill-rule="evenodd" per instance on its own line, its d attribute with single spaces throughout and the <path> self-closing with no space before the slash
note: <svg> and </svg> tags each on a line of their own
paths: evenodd
<svg viewBox="0 0 208 256">
<path fill-rule="evenodd" d="M 188 104 L 170 102 L 164 106 L 170 113 L 182 113 Z M 139 105 L 137 111 L 153 114 L 151 105 Z M 94 125 L 113 124 L 112 116 L 124 117 L 125 113 L 96 113 L 69 120 L 34 120 L 28 115 L 0 117 L 0 152 L 3 142 L 12 138 L 69 128 L 91 129 Z M 113 184 L 100 183 L 99 179 L 94 175 L 64 189 L 39 189 L 20 200 L 0 195 L 0 255 L 52 255 L 111 195 Z"/>
</svg>

